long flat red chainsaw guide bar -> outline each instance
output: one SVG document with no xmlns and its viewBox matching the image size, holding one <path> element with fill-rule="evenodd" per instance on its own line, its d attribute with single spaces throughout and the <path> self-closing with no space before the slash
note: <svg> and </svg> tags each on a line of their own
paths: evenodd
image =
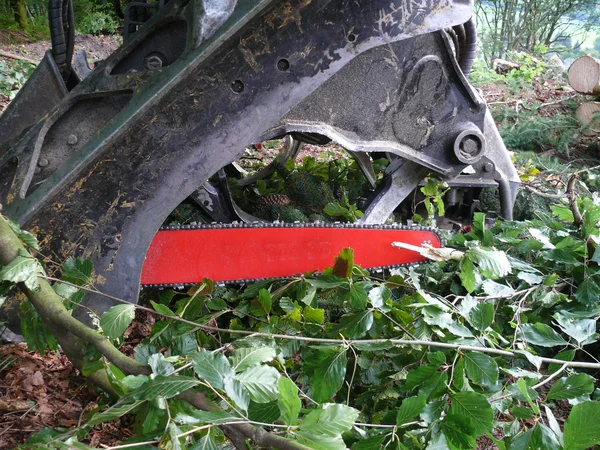
<svg viewBox="0 0 600 450">
<path fill-rule="evenodd" d="M 392 242 L 441 247 L 430 228 L 348 224 L 227 224 L 169 227 L 146 254 L 143 285 L 181 285 L 210 278 L 242 282 L 289 277 L 331 267 L 344 248 L 365 269 L 423 262 Z"/>
</svg>

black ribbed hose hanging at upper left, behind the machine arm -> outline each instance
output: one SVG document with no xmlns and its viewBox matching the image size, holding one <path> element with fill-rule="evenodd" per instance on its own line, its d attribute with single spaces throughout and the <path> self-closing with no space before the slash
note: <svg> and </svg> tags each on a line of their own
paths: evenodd
<svg viewBox="0 0 600 450">
<path fill-rule="evenodd" d="M 48 22 L 52 41 L 52 56 L 66 80 L 71 74 L 71 59 L 75 47 L 75 16 L 72 0 L 49 0 Z"/>
</svg>

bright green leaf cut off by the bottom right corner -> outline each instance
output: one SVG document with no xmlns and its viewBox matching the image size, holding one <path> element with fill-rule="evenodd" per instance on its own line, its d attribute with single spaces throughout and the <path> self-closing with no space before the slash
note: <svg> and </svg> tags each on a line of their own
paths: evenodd
<svg viewBox="0 0 600 450">
<path fill-rule="evenodd" d="M 600 444 L 600 402 L 582 402 L 573 406 L 565 422 L 565 450 L 584 450 Z"/>
</svg>

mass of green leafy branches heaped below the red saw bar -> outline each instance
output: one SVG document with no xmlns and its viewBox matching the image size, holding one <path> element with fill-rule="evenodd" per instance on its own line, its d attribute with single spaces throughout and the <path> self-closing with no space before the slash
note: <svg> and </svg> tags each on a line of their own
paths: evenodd
<svg viewBox="0 0 600 450">
<path fill-rule="evenodd" d="M 314 449 L 598 444 L 595 372 L 569 364 L 598 367 L 600 199 L 579 200 L 581 226 L 568 208 L 491 228 L 476 214 L 469 232 L 447 236 L 458 260 L 372 277 L 345 249 L 322 275 L 163 294 L 152 305 L 164 316 L 136 349 L 152 374 L 126 377 L 91 351 L 86 373 L 105 370 L 122 397 L 52 442 L 134 413 L 140 438 L 179 448 L 218 448 L 218 426 L 238 422 Z M 84 261 L 66 269 L 80 284 L 92 277 Z M 107 311 L 105 334 L 121 336 L 134 308 Z M 176 396 L 188 388 L 222 410 L 185 405 Z M 567 404 L 563 430 L 553 410 Z"/>
</svg>

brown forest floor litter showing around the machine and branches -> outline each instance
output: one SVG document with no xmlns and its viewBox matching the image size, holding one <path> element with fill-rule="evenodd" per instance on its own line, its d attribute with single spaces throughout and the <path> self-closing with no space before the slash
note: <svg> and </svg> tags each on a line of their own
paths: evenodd
<svg viewBox="0 0 600 450">
<path fill-rule="evenodd" d="M 76 52 L 85 50 L 90 63 L 102 60 L 120 44 L 115 36 L 80 35 L 76 38 Z M 39 61 L 50 48 L 48 41 L 27 42 L 18 33 L 0 30 L 0 51 Z M 0 61 L 6 59 L 0 56 Z M 505 86 L 490 84 L 482 87 L 489 105 L 526 112 L 535 107 L 541 117 L 573 114 L 569 102 L 581 101 L 582 96 L 565 88 L 565 83 L 545 81 L 534 83 L 518 95 Z M 9 98 L 0 94 L 0 111 Z M 558 156 L 563 161 L 597 160 L 600 137 L 577 134 L 570 145 L 570 153 L 564 155 L 557 149 L 545 149 L 542 154 Z M 330 147 L 334 152 L 338 149 Z M 301 156 L 315 156 L 322 149 L 306 147 Z M 263 147 L 251 158 L 272 157 L 276 148 Z M 261 156 L 262 155 L 262 156 Z M 138 314 L 144 314 L 138 312 Z M 126 332 L 126 346 L 139 342 L 143 326 L 152 323 L 152 317 L 139 317 Z M 141 324 L 141 325 L 136 325 Z M 136 328 L 137 327 L 137 328 Z M 40 355 L 27 351 L 25 344 L 0 345 L 0 449 L 10 449 L 27 441 L 32 434 L 43 428 L 69 428 L 77 426 L 87 413 L 100 403 L 106 402 L 103 394 L 90 386 L 86 379 L 73 368 L 68 359 L 59 352 Z M 555 412 L 556 414 L 556 412 Z M 565 411 L 565 416 L 568 411 Z M 127 417 L 95 427 L 88 435 L 88 444 L 99 448 L 116 445 L 133 434 L 133 424 Z M 489 448 L 489 447 L 487 447 Z"/>
</svg>

